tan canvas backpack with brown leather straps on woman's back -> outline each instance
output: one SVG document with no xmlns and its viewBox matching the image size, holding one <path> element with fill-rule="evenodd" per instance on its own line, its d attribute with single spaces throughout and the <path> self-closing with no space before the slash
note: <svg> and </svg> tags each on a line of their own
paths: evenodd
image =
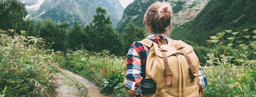
<svg viewBox="0 0 256 97">
<path fill-rule="evenodd" d="M 159 41 L 161 39 L 162 43 Z M 157 84 L 150 97 L 203 97 L 203 86 L 198 78 L 199 60 L 192 46 L 179 40 L 158 36 L 158 44 L 150 39 L 138 41 L 149 47 L 146 61 L 146 78 Z M 186 87 L 186 88 L 184 88 Z M 141 97 L 148 97 L 143 96 Z"/>
</svg>

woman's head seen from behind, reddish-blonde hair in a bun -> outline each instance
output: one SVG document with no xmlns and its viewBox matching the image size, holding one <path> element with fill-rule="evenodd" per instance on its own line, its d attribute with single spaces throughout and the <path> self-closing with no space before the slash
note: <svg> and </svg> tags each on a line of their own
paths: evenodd
<svg viewBox="0 0 256 97">
<path fill-rule="evenodd" d="M 166 34 L 170 35 L 170 31 L 172 30 L 171 18 L 171 6 L 163 2 L 155 2 L 148 7 L 144 15 L 143 24 L 147 30 L 151 27 L 154 33 L 166 31 Z"/>
</svg>

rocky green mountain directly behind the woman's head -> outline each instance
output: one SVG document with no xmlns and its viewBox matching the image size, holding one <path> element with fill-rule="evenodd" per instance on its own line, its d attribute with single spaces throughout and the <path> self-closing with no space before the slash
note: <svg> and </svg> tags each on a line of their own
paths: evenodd
<svg viewBox="0 0 256 97">
<path fill-rule="evenodd" d="M 134 0 L 124 9 L 122 19 L 118 22 L 116 30 L 123 33 L 124 27 L 131 21 L 137 26 L 143 27 L 144 14 L 148 7 L 156 1 L 172 6 L 172 23 L 174 27 L 178 27 L 195 19 L 209 0 Z"/>
</svg>

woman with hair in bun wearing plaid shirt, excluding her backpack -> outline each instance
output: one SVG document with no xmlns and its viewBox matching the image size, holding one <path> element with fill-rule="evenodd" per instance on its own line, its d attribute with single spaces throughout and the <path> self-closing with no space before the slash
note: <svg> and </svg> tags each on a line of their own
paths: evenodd
<svg viewBox="0 0 256 97">
<path fill-rule="evenodd" d="M 167 36 L 170 35 L 172 30 L 171 17 L 172 9 L 169 4 L 155 2 L 150 5 L 143 20 L 144 27 L 148 31 L 147 39 L 158 44 L 157 37 L 161 35 L 168 43 Z M 149 48 L 139 42 L 134 42 L 128 51 L 124 85 L 131 96 L 135 96 L 136 91 L 139 89 L 139 82 L 145 78 L 145 65 L 148 53 Z M 202 74 L 199 78 L 203 81 L 205 89 L 207 80 L 202 71 L 199 74 Z"/>
</svg>

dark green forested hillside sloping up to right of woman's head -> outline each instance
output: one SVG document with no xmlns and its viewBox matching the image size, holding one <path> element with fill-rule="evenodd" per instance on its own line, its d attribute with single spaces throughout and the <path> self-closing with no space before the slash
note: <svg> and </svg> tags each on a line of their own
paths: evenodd
<svg viewBox="0 0 256 97">
<path fill-rule="evenodd" d="M 242 29 L 249 28 L 248 34 L 254 36 L 251 31 L 256 28 L 255 4 L 255 0 L 211 0 L 193 21 L 173 29 L 171 38 L 206 46 L 209 36 L 233 30 L 240 32 L 236 40 L 248 41 Z"/>
</svg>

